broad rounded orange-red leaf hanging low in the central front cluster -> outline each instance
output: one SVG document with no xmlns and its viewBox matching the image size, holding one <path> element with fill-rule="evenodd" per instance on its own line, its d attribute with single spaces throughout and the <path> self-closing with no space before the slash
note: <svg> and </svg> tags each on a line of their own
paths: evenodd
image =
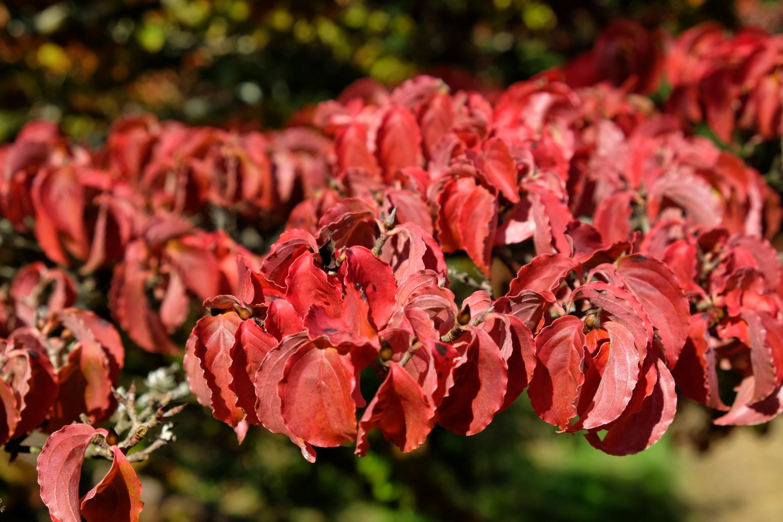
<svg viewBox="0 0 783 522">
<path fill-rule="evenodd" d="M 323 343 L 298 347 L 277 388 L 280 414 L 296 437 L 330 448 L 356 437 L 356 385 L 350 355 Z"/>
</svg>

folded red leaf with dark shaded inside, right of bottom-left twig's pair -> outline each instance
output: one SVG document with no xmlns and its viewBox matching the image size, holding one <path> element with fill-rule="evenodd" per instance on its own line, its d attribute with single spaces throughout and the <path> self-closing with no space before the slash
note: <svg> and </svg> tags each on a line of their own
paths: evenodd
<svg viewBox="0 0 783 522">
<path fill-rule="evenodd" d="M 112 450 L 111 468 L 81 500 L 81 514 L 87 522 L 138 522 L 144 508 L 142 483 L 122 450 L 117 446 Z"/>
</svg>

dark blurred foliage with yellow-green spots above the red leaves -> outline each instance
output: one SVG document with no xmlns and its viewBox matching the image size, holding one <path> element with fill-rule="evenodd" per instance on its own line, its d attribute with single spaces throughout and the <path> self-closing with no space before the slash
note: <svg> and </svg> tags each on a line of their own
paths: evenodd
<svg viewBox="0 0 783 522">
<path fill-rule="evenodd" d="M 425 71 L 456 86 L 507 85 L 588 48 L 618 16 L 675 32 L 707 19 L 728 27 L 765 23 L 774 30 L 783 17 L 774 4 L 0 2 L 0 139 L 31 117 L 46 117 L 61 121 L 70 135 L 99 140 L 114 118 L 140 110 L 193 123 L 236 119 L 277 126 L 363 76 L 393 85 Z"/>
</svg>

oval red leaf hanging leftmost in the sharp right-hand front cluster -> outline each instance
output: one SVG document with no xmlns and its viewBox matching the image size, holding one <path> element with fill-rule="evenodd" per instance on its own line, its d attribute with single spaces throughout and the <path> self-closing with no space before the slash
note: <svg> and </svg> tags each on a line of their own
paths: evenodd
<svg viewBox="0 0 783 522">
<path fill-rule="evenodd" d="M 539 417 L 564 430 L 576 416 L 576 399 L 584 382 L 582 361 L 583 322 L 573 316 L 558 317 L 536 336 L 536 370 L 528 395 Z"/>
</svg>

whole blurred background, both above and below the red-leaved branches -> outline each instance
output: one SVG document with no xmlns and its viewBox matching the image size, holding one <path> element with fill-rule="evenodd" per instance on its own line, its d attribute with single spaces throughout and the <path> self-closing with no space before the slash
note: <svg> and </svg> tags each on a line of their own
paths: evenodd
<svg viewBox="0 0 783 522">
<path fill-rule="evenodd" d="M 673 33 L 703 20 L 783 27 L 781 2 L 764 0 L 0 2 L 0 140 L 45 117 L 96 143 L 139 111 L 279 126 L 368 75 L 503 86 L 576 56 L 620 16 Z M 125 340 L 125 385 L 171 362 Z M 143 520 L 780 520 L 780 423 L 729 431 L 695 404 L 680 409 L 658 445 L 630 457 L 556 437 L 521 398 L 474 437 L 436 428 L 402 455 L 376 433 L 363 459 L 324 449 L 310 465 L 260 429 L 237 445 L 193 402 L 179 441 L 139 466 Z M 106 466 L 85 465 L 85 491 Z M 30 455 L 0 459 L 0 520 L 48 520 L 35 481 Z"/>
</svg>

